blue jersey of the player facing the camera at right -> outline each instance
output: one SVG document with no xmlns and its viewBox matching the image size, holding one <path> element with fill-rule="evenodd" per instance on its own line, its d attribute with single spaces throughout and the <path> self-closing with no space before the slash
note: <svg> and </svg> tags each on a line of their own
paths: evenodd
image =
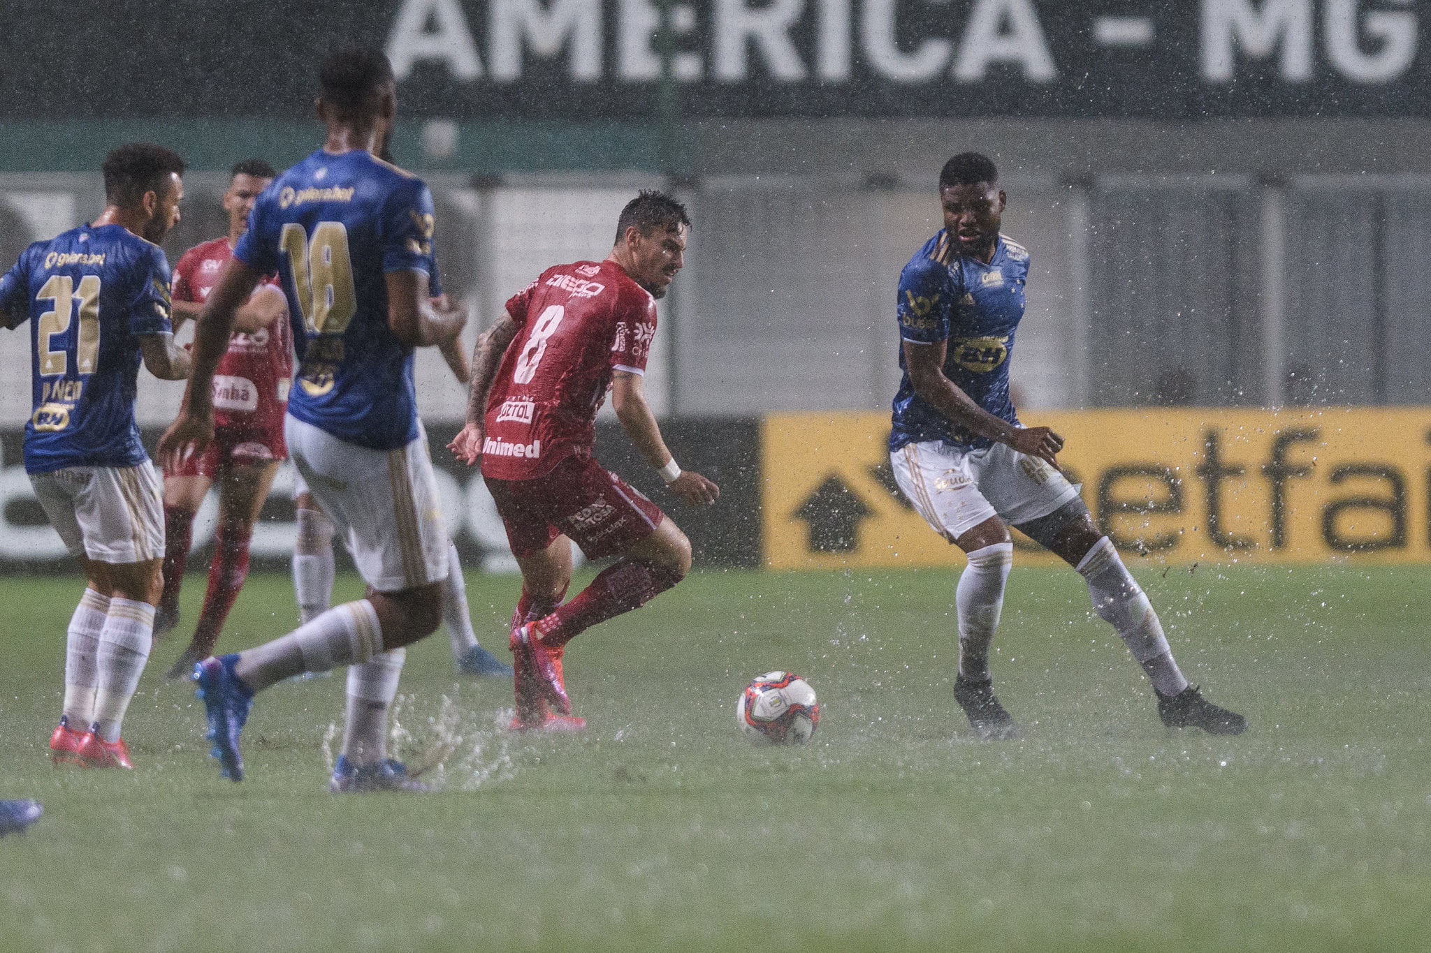
<svg viewBox="0 0 1431 953">
<path fill-rule="evenodd" d="M 963 257 L 943 229 L 914 253 L 899 277 L 899 333 L 906 341 L 949 341 L 944 376 L 975 403 L 1012 424 L 1019 419 L 1009 401 L 1009 359 L 1023 319 L 1023 287 L 1029 279 L 1029 253 L 999 236 L 989 264 Z M 964 449 L 993 444 L 987 437 L 956 427 L 949 417 L 914 393 L 899 354 L 899 393 L 890 450 L 906 443 L 942 440 Z"/>
</svg>

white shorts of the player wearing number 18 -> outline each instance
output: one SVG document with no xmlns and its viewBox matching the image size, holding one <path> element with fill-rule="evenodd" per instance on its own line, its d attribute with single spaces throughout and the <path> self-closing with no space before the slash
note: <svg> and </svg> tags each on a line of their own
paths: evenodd
<svg viewBox="0 0 1431 953">
<path fill-rule="evenodd" d="M 446 579 L 446 524 L 421 421 L 418 439 L 396 450 L 359 447 L 292 414 L 283 436 L 369 586 L 392 593 Z"/>
</svg>

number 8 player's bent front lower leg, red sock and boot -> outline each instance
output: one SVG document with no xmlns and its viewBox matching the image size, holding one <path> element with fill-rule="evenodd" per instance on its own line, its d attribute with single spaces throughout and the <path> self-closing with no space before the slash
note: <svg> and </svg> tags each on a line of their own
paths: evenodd
<svg viewBox="0 0 1431 953">
<path fill-rule="evenodd" d="M 591 626 L 640 609 L 681 582 L 690 567 L 690 540 L 670 517 L 663 517 L 650 536 L 625 550 L 620 562 L 604 569 L 570 603 L 514 629 L 512 653 L 525 663 L 545 700 L 571 714 L 561 672 L 567 643 Z"/>
</svg>

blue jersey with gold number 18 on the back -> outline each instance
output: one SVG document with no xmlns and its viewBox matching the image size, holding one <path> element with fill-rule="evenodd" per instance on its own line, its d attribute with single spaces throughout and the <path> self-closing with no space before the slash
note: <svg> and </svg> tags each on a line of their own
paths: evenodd
<svg viewBox="0 0 1431 953">
<path fill-rule="evenodd" d="M 416 440 L 412 347 L 388 327 L 384 276 L 432 276 L 432 229 L 422 180 L 362 150 L 318 150 L 259 196 L 233 256 L 283 281 L 299 356 L 290 414 L 373 450 Z"/>
</svg>

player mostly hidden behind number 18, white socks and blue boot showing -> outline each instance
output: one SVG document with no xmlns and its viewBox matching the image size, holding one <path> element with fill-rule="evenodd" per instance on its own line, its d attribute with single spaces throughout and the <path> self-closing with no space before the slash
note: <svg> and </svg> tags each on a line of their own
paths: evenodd
<svg viewBox="0 0 1431 953">
<path fill-rule="evenodd" d="M 392 129 L 389 127 L 378 157 L 392 161 Z M 436 257 L 432 259 L 432 273 L 428 276 L 428 293 L 432 306 L 439 310 L 451 307 L 438 276 Z M 462 340 L 438 344 L 442 359 L 452 374 L 464 384 L 472 379 L 472 367 L 462 350 Z M 293 594 L 298 597 L 301 623 L 311 622 L 328 612 L 333 600 L 333 522 L 328 519 L 318 500 L 313 499 L 303 474 L 293 477 L 293 509 L 298 534 L 293 537 Z M 452 657 L 459 673 L 474 677 L 509 679 L 512 667 L 484 649 L 477 642 L 472 629 L 472 612 L 467 603 L 467 580 L 462 577 L 462 562 L 456 546 L 448 542 L 448 577 L 442 580 L 442 624 L 452 643 Z"/>
</svg>

